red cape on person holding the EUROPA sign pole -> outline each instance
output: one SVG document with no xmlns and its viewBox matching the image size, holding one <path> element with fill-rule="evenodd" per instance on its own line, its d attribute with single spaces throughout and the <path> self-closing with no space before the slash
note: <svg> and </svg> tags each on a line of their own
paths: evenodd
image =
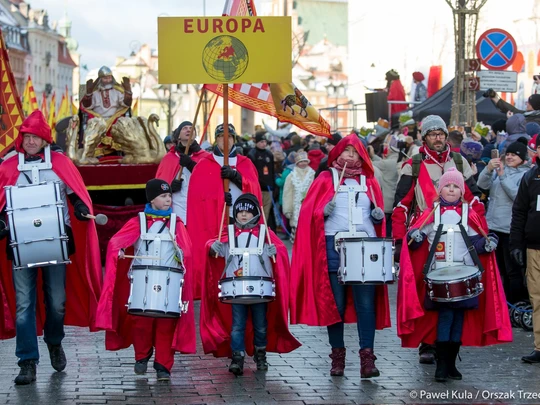
<svg viewBox="0 0 540 405">
<path fill-rule="evenodd" d="M 262 201 L 261 187 L 257 169 L 244 156 L 238 156 L 236 170 L 242 175 L 242 192 L 252 193 Z M 213 155 L 202 158 L 189 181 L 187 223 L 196 224 L 189 229 L 193 243 L 193 271 L 195 273 L 194 299 L 201 298 L 202 274 L 206 261 L 206 242 L 216 239 L 225 204 L 221 166 Z M 227 225 L 228 212 L 225 213 L 224 227 Z"/>
</svg>

